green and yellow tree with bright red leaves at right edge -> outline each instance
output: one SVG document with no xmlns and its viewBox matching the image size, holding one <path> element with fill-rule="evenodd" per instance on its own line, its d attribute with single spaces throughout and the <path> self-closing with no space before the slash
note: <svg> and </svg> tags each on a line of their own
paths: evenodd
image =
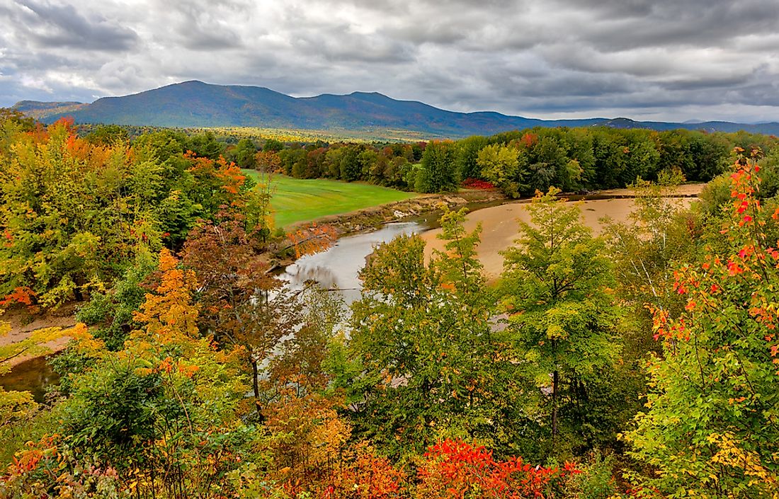
<svg viewBox="0 0 779 499">
<path fill-rule="evenodd" d="M 768 237 L 779 209 L 756 199 L 759 172 L 756 154 L 738 157 L 730 219 L 710 228 L 724 244 L 675 270 L 682 311 L 654 308 L 663 356 L 625 439 L 657 470 L 634 480 L 665 497 L 779 494 L 779 251 Z"/>
</svg>

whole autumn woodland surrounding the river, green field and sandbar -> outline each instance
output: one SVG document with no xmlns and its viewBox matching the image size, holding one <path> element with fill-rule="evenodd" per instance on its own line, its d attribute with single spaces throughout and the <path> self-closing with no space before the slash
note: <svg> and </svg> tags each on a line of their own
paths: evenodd
<svg viewBox="0 0 779 499">
<path fill-rule="evenodd" d="M 481 179 L 533 195 L 530 223 L 488 283 L 444 209 L 444 250 L 379 245 L 346 307 L 272 271 L 333 230 L 276 230 L 241 167 Z M 685 177 L 713 180 L 678 209 Z M 78 324 L 0 343 L 2 374 L 71 338 L 44 402 L 0 388 L 0 497 L 775 499 L 777 179 L 776 139 L 744 133 L 228 145 L 2 111 L 0 303 Z M 601 236 L 559 196 L 626 184 Z"/>
</svg>

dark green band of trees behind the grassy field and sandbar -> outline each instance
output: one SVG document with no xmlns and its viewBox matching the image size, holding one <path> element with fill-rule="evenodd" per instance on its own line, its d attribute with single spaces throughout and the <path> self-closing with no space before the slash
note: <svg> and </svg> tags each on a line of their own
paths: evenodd
<svg viewBox="0 0 779 499">
<path fill-rule="evenodd" d="M 368 181 L 418 192 L 453 191 L 474 178 L 516 197 L 552 185 L 564 192 L 625 187 L 639 177 L 656 180 L 663 170 L 679 170 L 688 181 L 710 181 L 727 169 L 735 147 L 770 153 L 777 139 L 746 132 L 597 127 L 534 128 L 417 144 L 269 141 L 257 158 L 247 152 L 252 146 L 241 139 L 226 153 L 241 167 L 277 167 L 298 178 Z M 273 153 L 277 157 L 268 157 Z"/>
</svg>

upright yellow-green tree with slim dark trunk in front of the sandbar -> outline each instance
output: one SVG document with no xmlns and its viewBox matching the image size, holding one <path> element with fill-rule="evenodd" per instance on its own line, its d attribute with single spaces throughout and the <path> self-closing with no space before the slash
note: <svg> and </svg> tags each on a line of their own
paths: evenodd
<svg viewBox="0 0 779 499">
<path fill-rule="evenodd" d="M 555 198 L 557 192 L 539 192 L 530 203 L 530 223 L 520 222 L 521 237 L 504 252 L 502 274 L 502 307 L 517 361 L 541 392 L 551 391 L 552 445 L 559 443 L 561 386 L 569 399 L 581 399 L 619 356 L 604 243 L 584 226 L 578 207 Z M 579 433 L 576 425 L 584 422 L 564 421 Z"/>
</svg>

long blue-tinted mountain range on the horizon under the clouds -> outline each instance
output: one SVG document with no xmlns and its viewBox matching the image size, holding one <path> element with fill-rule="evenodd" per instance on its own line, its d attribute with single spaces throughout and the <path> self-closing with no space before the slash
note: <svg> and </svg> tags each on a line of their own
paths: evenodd
<svg viewBox="0 0 779 499">
<path fill-rule="evenodd" d="M 404 130 L 428 137 L 490 135 L 534 126 L 688 128 L 706 131 L 777 134 L 779 123 L 756 125 L 729 121 L 633 121 L 629 118 L 540 120 L 495 112 L 457 113 L 413 100 L 395 100 L 381 93 L 324 93 L 290 97 L 261 86 L 175 83 L 124 97 L 103 97 L 92 104 L 23 100 L 14 108 L 44 122 L 72 116 L 76 123 L 159 127 L 260 127 L 328 131 Z"/>
</svg>

